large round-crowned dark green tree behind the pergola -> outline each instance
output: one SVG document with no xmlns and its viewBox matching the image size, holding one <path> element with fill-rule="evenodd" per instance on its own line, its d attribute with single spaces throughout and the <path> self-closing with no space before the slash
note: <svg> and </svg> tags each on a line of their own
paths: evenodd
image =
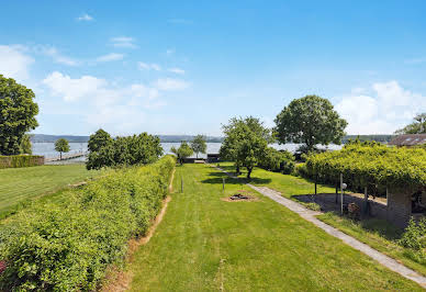
<svg viewBox="0 0 426 292">
<path fill-rule="evenodd" d="M 312 151 L 316 144 L 340 144 L 348 124 L 327 99 L 317 96 L 293 100 L 274 122 L 279 143 L 302 143 L 307 151 Z"/>
</svg>

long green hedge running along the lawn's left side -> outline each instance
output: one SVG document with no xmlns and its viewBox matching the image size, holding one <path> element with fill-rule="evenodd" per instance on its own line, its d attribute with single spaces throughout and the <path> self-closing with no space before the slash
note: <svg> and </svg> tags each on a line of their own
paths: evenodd
<svg viewBox="0 0 426 292">
<path fill-rule="evenodd" d="M 130 238 L 143 235 L 168 193 L 175 158 L 166 156 L 70 190 L 66 202 L 21 212 L 0 231 L 7 269 L 0 291 L 88 291 L 120 263 Z"/>
</svg>

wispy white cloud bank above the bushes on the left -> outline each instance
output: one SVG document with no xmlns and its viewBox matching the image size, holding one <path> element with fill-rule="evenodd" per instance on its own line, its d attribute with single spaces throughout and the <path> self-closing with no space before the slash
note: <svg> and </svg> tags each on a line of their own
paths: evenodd
<svg viewBox="0 0 426 292">
<path fill-rule="evenodd" d="M 170 80 L 159 82 L 159 87 L 143 83 L 121 87 L 93 76 L 71 78 L 58 71 L 48 75 L 43 85 L 46 93 L 61 98 L 70 109 L 78 109 L 78 115 L 83 116 L 91 128 L 102 126 L 115 133 L 141 131 L 142 125 L 146 125 L 147 111 L 167 104 L 160 99 L 161 91 L 183 88 L 182 83 Z"/>
</svg>

